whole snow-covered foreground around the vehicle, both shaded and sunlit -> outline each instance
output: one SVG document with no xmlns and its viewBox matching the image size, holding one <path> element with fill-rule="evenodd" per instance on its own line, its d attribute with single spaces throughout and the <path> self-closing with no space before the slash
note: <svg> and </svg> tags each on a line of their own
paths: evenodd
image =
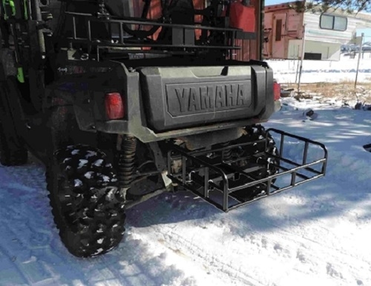
<svg viewBox="0 0 371 286">
<path fill-rule="evenodd" d="M 371 112 L 283 103 L 265 126 L 325 143 L 325 177 L 229 213 L 188 192 L 162 194 L 130 209 L 119 247 L 95 259 L 60 242 L 40 163 L 0 165 L 0 285 L 371 285 L 371 153 L 362 148 Z M 315 120 L 302 117 L 308 107 Z"/>
</svg>

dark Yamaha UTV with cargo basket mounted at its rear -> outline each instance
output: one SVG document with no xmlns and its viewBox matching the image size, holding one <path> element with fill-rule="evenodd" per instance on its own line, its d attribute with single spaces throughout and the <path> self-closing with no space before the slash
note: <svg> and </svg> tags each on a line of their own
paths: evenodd
<svg viewBox="0 0 371 286">
<path fill-rule="evenodd" d="M 263 6 L 2 0 L 1 164 L 28 152 L 45 164 L 70 253 L 108 252 L 125 209 L 162 192 L 228 211 L 324 176 L 323 144 L 260 125 L 280 108 L 261 61 Z M 284 156 L 288 137 L 303 144 L 301 162 Z M 311 146 L 323 156 L 309 160 Z"/>
</svg>

